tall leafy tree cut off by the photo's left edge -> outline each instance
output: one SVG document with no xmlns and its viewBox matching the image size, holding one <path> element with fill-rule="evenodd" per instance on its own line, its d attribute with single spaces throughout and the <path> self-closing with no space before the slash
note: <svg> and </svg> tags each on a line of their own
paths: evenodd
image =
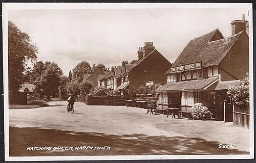
<svg viewBox="0 0 256 163">
<path fill-rule="evenodd" d="M 36 61 L 36 44 L 31 42 L 28 34 L 20 31 L 8 21 L 8 80 L 9 93 L 17 93 L 20 84 L 24 83 L 24 71 L 28 61 Z"/>
</svg>

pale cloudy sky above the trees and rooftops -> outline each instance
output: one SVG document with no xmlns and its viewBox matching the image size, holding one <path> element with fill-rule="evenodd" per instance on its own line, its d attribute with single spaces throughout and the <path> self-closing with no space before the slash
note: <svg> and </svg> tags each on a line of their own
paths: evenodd
<svg viewBox="0 0 256 163">
<path fill-rule="evenodd" d="M 171 63 L 189 40 L 219 29 L 231 35 L 230 22 L 247 8 L 40 9 L 9 10 L 11 20 L 38 47 L 37 61 L 54 61 L 68 76 L 79 62 L 121 66 L 137 60 L 145 41 Z"/>
</svg>

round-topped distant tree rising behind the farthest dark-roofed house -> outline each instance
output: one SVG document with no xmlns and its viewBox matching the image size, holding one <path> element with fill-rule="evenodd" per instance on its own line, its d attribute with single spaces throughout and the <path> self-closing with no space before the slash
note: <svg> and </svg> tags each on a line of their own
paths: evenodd
<svg viewBox="0 0 256 163">
<path fill-rule="evenodd" d="M 82 61 L 76 65 L 73 71 L 73 79 L 78 83 L 82 82 L 83 75 L 91 73 L 91 66 L 88 62 Z"/>
</svg>

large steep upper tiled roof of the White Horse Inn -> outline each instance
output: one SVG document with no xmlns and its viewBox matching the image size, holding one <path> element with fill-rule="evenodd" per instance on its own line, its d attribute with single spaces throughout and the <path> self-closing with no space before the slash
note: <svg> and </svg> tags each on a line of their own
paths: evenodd
<svg viewBox="0 0 256 163">
<path fill-rule="evenodd" d="M 212 41 L 217 33 L 222 39 Z M 242 33 L 243 31 L 223 38 L 219 29 L 216 29 L 206 35 L 194 38 L 188 42 L 171 67 L 200 61 L 203 67 L 219 65 Z"/>
</svg>

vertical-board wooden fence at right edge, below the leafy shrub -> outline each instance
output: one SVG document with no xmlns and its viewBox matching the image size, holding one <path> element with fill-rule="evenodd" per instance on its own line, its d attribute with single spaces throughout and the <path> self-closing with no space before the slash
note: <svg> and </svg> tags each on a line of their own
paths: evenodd
<svg viewBox="0 0 256 163">
<path fill-rule="evenodd" d="M 241 107 L 234 105 L 233 124 L 237 126 L 249 128 L 250 127 L 249 122 L 250 122 L 249 106 L 247 108 L 242 109 Z"/>
</svg>

